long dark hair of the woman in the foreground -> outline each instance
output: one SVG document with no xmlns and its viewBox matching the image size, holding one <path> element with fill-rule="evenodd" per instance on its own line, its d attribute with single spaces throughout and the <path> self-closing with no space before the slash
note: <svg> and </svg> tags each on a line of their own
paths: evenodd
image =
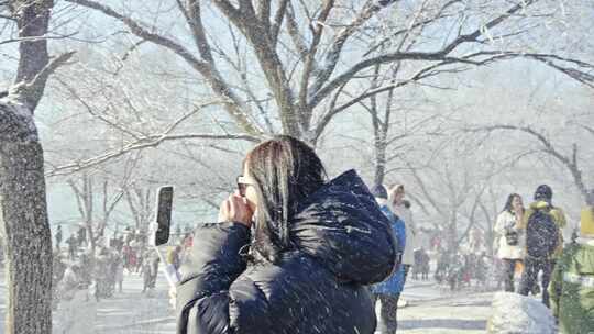
<svg viewBox="0 0 594 334">
<path fill-rule="evenodd" d="M 311 147 L 286 135 L 257 145 L 243 164 L 257 196 L 252 247 L 275 263 L 292 247 L 289 224 L 297 207 L 324 183 L 326 170 Z"/>
</svg>

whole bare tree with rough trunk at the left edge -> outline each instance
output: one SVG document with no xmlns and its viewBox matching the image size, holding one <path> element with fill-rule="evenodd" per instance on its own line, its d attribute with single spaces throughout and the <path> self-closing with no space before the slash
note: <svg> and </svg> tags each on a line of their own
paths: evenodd
<svg viewBox="0 0 594 334">
<path fill-rule="evenodd" d="M 19 40 L 14 84 L 0 99 L 0 223 L 8 258 L 9 334 L 52 332 L 52 237 L 34 111 L 51 74 L 72 56 L 48 55 L 45 35 L 53 4 L 0 2 L 0 20 L 14 22 Z"/>
</svg>

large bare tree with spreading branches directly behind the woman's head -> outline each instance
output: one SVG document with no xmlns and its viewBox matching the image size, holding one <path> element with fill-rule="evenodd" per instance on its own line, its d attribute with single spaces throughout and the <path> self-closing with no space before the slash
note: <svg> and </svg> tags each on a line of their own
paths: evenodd
<svg viewBox="0 0 594 334">
<path fill-rule="evenodd" d="M 341 93 L 343 88 L 352 86 L 378 64 L 425 62 L 440 66 L 474 66 L 525 57 L 549 64 L 554 60 L 564 62 L 568 66 L 578 68 L 587 66 L 548 54 L 488 47 L 493 40 L 521 34 L 522 31 L 514 29 L 510 22 L 521 21 L 521 18 L 532 19 L 528 9 L 538 3 L 538 0 L 518 1 L 503 10 L 501 4 L 481 4 L 474 13 L 468 10 L 463 1 L 437 1 L 414 11 L 410 15 L 418 20 L 414 20 L 413 24 L 394 23 L 389 19 L 385 24 L 382 23 L 382 14 L 389 15 L 391 9 L 404 10 L 404 7 L 395 9 L 395 4 L 399 2 L 396 0 L 367 0 L 362 3 L 333 0 L 262 0 L 255 4 L 250 0 L 176 1 L 177 14 L 186 21 L 191 37 L 185 40 L 193 41 L 193 44 L 180 42 L 185 36 L 176 37 L 174 33 L 135 19 L 117 7 L 92 0 L 67 1 L 119 21 L 140 40 L 139 43 L 151 43 L 179 56 L 196 75 L 208 82 L 218 99 L 224 101 L 226 110 L 238 127 L 255 137 L 262 137 L 272 131 L 316 143 L 337 114 L 362 99 L 389 90 L 389 87 L 382 87 L 355 94 L 351 99 L 345 99 Z M 217 14 L 204 14 L 208 4 L 217 9 Z M 488 15 L 488 12 L 493 14 Z M 472 15 L 476 15 L 476 21 L 485 23 L 464 32 L 470 25 L 468 22 L 472 21 L 468 18 Z M 222 19 L 217 21 L 217 16 Z M 538 12 L 535 13 L 535 18 L 537 16 Z M 233 25 L 230 30 L 230 35 L 234 38 L 233 47 L 219 46 L 217 38 L 212 36 L 211 27 L 221 21 L 231 22 Z M 509 26 L 506 26 L 508 23 Z M 410 31 L 422 30 L 428 25 L 435 30 L 449 24 L 454 24 L 451 30 L 458 34 L 444 34 L 442 47 L 436 51 L 428 52 L 422 47 L 384 47 L 387 42 L 397 41 Z M 386 38 L 376 41 L 375 33 L 382 29 L 388 29 L 389 32 L 385 33 Z M 491 33 L 498 29 L 502 31 L 501 35 Z M 361 49 L 359 41 L 366 42 L 363 43 L 365 46 L 361 55 L 349 51 L 351 46 Z M 466 45 L 474 45 L 476 51 L 464 53 L 463 49 L 469 49 Z M 233 55 L 230 48 L 234 49 L 237 55 Z M 383 52 L 375 52 L 378 49 Z M 341 63 L 345 58 L 350 58 L 350 65 Z M 252 60 L 255 60 L 253 65 L 248 63 Z M 227 76 L 221 64 L 235 69 L 234 75 Z M 429 73 L 430 68 L 425 71 Z M 255 91 L 256 87 L 262 87 L 258 85 L 261 78 L 264 78 L 267 86 L 265 93 Z M 239 85 L 235 85 L 237 82 Z M 273 99 L 275 116 L 258 115 L 262 110 L 266 110 L 262 105 L 262 101 L 266 100 L 264 96 Z M 328 103 L 336 99 L 340 103 L 328 108 Z M 279 130 L 271 122 L 274 119 L 279 121 Z"/>
</svg>

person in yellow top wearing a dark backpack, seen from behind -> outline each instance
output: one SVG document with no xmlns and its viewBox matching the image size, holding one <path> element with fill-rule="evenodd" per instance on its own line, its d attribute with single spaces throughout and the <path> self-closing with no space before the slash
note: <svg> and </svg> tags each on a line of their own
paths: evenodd
<svg viewBox="0 0 594 334">
<path fill-rule="evenodd" d="M 549 307 L 549 281 L 556 258 L 563 248 L 561 229 L 566 225 L 563 211 L 552 204 L 551 187 L 541 185 L 535 192 L 535 202 L 524 215 L 520 229 L 526 233 L 525 269 L 521 275 L 519 293 L 528 296 L 538 283 L 542 271 L 542 303 Z"/>
</svg>

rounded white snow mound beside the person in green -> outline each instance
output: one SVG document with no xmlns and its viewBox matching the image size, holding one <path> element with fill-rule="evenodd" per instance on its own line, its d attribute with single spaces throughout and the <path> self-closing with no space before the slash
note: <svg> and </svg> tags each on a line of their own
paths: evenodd
<svg viewBox="0 0 594 334">
<path fill-rule="evenodd" d="M 539 300 L 510 292 L 493 297 L 493 313 L 487 321 L 492 334 L 554 334 L 552 312 Z"/>
</svg>

